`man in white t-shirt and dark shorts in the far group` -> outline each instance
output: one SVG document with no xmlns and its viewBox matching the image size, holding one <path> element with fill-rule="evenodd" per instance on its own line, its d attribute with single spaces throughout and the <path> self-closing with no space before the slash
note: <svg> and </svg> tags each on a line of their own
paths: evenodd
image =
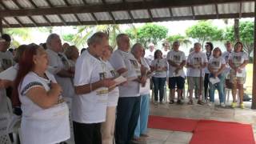
<svg viewBox="0 0 256 144">
<path fill-rule="evenodd" d="M 170 104 L 174 103 L 175 88 L 178 88 L 178 104 L 182 104 L 182 90 L 185 84 L 185 73 L 183 66 L 186 65 L 186 56 L 184 52 L 178 50 L 179 42 L 173 43 L 173 50 L 167 54 L 169 63 L 169 88 Z"/>
</svg>

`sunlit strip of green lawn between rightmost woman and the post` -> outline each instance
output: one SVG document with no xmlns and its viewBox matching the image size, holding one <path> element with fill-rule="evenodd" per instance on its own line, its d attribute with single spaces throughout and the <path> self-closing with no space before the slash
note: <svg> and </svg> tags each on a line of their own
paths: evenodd
<svg viewBox="0 0 256 144">
<path fill-rule="evenodd" d="M 250 63 L 246 66 L 246 94 L 252 94 L 253 88 L 253 64 Z"/>
</svg>

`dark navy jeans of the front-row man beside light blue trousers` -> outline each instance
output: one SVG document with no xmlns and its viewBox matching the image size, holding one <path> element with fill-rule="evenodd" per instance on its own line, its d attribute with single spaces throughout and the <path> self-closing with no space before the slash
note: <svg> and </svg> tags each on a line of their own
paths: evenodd
<svg viewBox="0 0 256 144">
<path fill-rule="evenodd" d="M 129 144 L 134 138 L 137 126 L 141 97 L 124 97 L 118 99 L 117 119 L 115 125 L 116 144 Z"/>
</svg>

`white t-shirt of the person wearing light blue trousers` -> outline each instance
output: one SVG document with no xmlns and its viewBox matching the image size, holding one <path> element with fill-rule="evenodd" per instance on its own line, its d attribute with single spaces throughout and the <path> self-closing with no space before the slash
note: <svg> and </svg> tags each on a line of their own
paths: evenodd
<svg viewBox="0 0 256 144">
<path fill-rule="evenodd" d="M 150 70 L 150 66 L 146 62 L 146 58 L 141 58 L 142 66 L 146 67 L 146 70 Z M 141 95 L 150 94 L 150 78 L 146 79 L 146 85 L 140 85 L 139 93 Z"/>
</svg>

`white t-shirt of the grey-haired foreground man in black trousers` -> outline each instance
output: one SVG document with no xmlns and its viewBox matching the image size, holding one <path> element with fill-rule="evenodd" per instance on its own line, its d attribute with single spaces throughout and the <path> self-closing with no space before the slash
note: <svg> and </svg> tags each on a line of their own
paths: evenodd
<svg viewBox="0 0 256 144">
<path fill-rule="evenodd" d="M 75 64 L 74 86 L 98 82 L 106 77 L 103 62 L 84 51 Z M 101 93 L 107 90 L 102 87 L 87 94 L 75 95 L 72 102 L 74 122 L 98 123 L 106 120 L 106 106 L 108 94 Z"/>
</svg>

